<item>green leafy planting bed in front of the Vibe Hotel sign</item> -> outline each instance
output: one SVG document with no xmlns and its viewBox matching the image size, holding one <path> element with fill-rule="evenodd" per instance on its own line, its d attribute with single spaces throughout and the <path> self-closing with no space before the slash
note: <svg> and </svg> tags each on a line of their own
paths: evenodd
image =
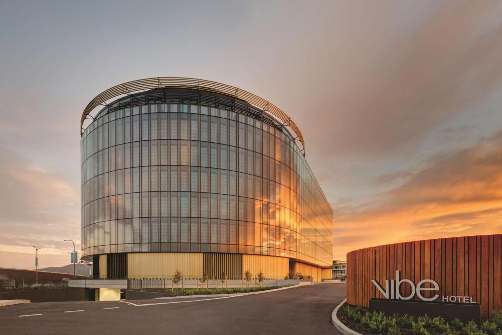
<svg viewBox="0 0 502 335">
<path fill-rule="evenodd" d="M 493 317 L 483 320 L 480 325 L 474 321 L 464 324 L 456 318 L 446 322 L 441 316 L 386 315 L 347 303 L 338 309 L 336 316 L 347 327 L 363 335 L 502 335 L 502 310 L 494 310 Z"/>
</svg>

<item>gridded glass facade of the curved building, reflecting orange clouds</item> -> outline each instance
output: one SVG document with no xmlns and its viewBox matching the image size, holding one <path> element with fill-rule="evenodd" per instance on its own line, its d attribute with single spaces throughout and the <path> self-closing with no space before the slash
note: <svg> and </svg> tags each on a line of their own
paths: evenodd
<svg viewBox="0 0 502 335">
<path fill-rule="evenodd" d="M 250 106 L 155 97 L 119 99 L 83 133 L 84 255 L 220 252 L 331 266 L 332 209 L 287 131 Z"/>
</svg>

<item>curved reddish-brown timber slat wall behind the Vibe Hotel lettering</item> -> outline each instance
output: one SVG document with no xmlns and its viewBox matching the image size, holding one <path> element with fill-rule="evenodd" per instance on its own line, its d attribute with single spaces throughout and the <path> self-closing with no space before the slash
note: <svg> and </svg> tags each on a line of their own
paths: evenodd
<svg viewBox="0 0 502 335">
<path fill-rule="evenodd" d="M 425 297 L 439 294 L 470 296 L 481 304 L 481 316 L 490 317 L 500 309 L 502 235 L 468 236 L 389 244 L 359 249 L 347 254 L 347 302 L 368 307 L 370 298 L 384 298 L 371 280 L 384 283 L 402 279 L 415 284 L 432 279 L 440 291 L 426 291 Z M 424 287 L 431 287 L 425 285 Z M 403 285 L 404 295 L 411 293 Z M 415 297 L 415 299 L 418 299 Z"/>
</svg>

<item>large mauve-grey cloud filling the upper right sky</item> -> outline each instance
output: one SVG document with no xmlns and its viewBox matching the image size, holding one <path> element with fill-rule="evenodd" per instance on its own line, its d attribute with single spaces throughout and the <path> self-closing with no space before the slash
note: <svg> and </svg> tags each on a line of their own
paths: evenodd
<svg viewBox="0 0 502 335">
<path fill-rule="evenodd" d="M 394 11 L 385 14 L 379 3 L 367 14 L 379 18 L 378 25 L 356 24 L 371 18 L 357 12 L 357 3 L 348 7 L 350 39 L 329 50 L 331 71 L 318 79 L 324 80 L 324 97 L 316 94 L 320 100 L 310 107 L 316 118 L 301 116 L 309 156 L 410 152 L 441 123 L 475 109 L 500 87 L 499 3 L 428 3 L 420 15 L 404 13 L 406 23 L 392 18 Z"/>
</svg>

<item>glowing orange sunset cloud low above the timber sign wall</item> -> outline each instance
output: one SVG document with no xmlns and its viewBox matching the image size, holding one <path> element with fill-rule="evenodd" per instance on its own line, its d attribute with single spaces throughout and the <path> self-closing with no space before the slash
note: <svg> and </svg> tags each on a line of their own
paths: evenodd
<svg viewBox="0 0 502 335">
<path fill-rule="evenodd" d="M 502 233 L 502 133 L 432 159 L 378 198 L 338 209 L 335 259 L 375 245 Z"/>
</svg>

